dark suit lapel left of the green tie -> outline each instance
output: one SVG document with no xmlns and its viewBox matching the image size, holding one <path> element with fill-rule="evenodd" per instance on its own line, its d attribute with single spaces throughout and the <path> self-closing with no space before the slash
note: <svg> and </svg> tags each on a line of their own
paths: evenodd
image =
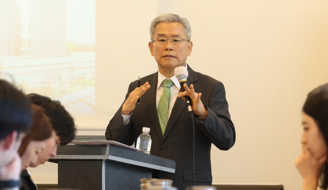
<svg viewBox="0 0 328 190">
<path fill-rule="evenodd" d="M 159 120 L 157 116 L 157 109 L 156 109 L 156 88 L 157 88 L 157 79 L 158 73 L 154 74 L 154 77 L 149 78 L 149 85 L 150 89 L 142 96 L 146 99 L 146 110 L 148 112 L 149 118 L 154 126 L 155 132 L 158 138 L 162 139 L 162 133 L 160 131 Z"/>
</svg>

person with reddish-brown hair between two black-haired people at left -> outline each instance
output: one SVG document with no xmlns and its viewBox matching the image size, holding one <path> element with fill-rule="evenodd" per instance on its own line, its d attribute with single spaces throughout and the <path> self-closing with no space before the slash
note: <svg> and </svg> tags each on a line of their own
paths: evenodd
<svg viewBox="0 0 328 190">
<path fill-rule="evenodd" d="M 46 149 L 48 141 L 52 141 L 51 123 L 44 113 L 44 109 L 32 104 L 33 122 L 30 132 L 24 137 L 22 144 L 18 149 L 18 154 L 22 158 L 22 174 L 20 180 L 22 186 L 20 189 L 37 189 L 26 168 L 35 163 L 37 157 Z"/>
</svg>

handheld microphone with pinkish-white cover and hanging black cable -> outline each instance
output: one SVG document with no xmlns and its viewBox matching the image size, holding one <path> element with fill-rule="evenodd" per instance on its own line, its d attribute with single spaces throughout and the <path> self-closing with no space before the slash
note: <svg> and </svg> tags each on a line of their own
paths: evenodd
<svg viewBox="0 0 328 190">
<path fill-rule="evenodd" d="M 185 92 L 186 89 L 183 87 L 184 84 L 187 84 L 188 70 L 186 67 L 177 67 L 174 70 L 174 75 L 178 79 L 182 92 Z M 188 111 L 191 113 L 191 120 L 193 123 L 193 186 L 195 185 L 195 121 L 194 121 L 194 111 L 191 107 L 191 99 L 189 96 L 185 96 L 185 100 L 188 106 Z"/>
</svg>

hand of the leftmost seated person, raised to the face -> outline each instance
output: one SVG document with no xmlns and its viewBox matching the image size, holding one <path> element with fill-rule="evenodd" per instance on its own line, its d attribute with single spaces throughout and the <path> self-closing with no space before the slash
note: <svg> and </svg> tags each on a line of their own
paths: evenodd
<svg viewBox="0 0 328 190">
<path fill-rule="evenodd" d="M 0 181 L 19 180 L 19 175 L 22 167 L 22 161 L 18 154 L 6 166 L 0 167 Z"/>
</svg>

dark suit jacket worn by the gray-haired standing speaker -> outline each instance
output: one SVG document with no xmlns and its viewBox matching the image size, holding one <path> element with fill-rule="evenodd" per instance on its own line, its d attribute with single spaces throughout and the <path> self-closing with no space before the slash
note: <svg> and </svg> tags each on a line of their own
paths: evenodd
<svg viewBox="0 0 328 190">
<path fill-rule="evenodd" d="M 201 101 L 208 109 L 208 117 L 202 123 L 195 120 L 195 185 L 211 185 L 211 144 L 220 150 L 229 150 L 235 143 L 236 133 L 230 119 L 228 102 L 223 84 L 207 75 L 193 71 L 188 65 L 188 86 L 194 85 L 197 93 L 201 93 Z M 173 186 L 185 189 L 192 185 L 193 168 L 193 129 L 191 115 L 185 100 L 177 98 L 165 133 L 162 136 L 156 110 L 156 88 L 158 73 L 141 78 L 141 84 L 149 82 L 150 89 L 141 97 L 140 104 L 124 124 L 121 108 L 110 120 L 106 139 L 115 140 L 127 145 L 136 143 L 142 133 L 142 127 L 150 128 L 152 146 L 150 154 L 174 160 L 175 174 L 159 172 L 160 179 L 172 179 Z M 130 83 L 126 99 L 131 91 L 138 87 L 138 81 Z M 215 161 L 219 161 L 216 158 Z M 153 176 L 154 177 L 154 176 Z"/>
</svg>

